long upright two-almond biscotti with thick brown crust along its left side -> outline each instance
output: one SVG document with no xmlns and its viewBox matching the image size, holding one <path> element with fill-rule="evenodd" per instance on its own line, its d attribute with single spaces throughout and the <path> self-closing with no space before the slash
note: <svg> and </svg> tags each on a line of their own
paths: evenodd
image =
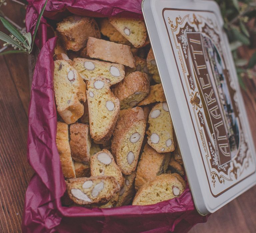
<svg viewBox="0 0 256 233">
<path fill-rule="evenodd" d="M 111 142 L 112 154 L 125 175 L 136 169 L 146 122 L 139 107 L 128 109 L 117 121 Z"/>
</svg>

